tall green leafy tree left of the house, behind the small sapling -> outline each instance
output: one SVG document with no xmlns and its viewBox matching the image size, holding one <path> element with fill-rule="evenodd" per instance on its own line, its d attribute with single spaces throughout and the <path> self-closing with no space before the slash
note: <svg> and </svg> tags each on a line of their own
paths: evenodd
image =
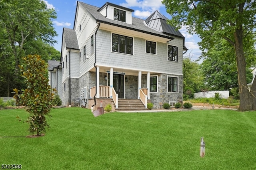
<svg viewBox="0 0 256 170">
<path fill-rule="evenodd" d="M 0 0 L 0 97 L 11 97 L 12 88 L 25 88 L 18 74 L 22 56 L 40 54 L 42 59 L 60 59 L 52 19 L 53 9 L 41 0 Z"/>
</svg>

